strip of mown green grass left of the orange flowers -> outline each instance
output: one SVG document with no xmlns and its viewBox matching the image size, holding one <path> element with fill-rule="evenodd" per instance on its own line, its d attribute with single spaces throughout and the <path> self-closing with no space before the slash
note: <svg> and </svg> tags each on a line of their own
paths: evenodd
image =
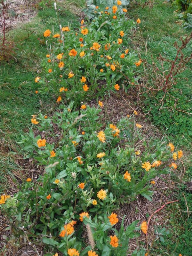
<svg viewBox="0 0 192 256">
<path fill-rule="evenodd" d="M 16 181 L 17 176 L 15 170 L 20 172 L 23 169 L 15 161 L 15 154 L 20 151 L 17 145 L 20 134 L 28 130 L 31 115 L 38 113 L 42 107 L 45 111 L 46 104 L 50 104 L 49 98 L 40 98 L 35 94 L 37 84 L 34 81 L 41 58 L 47 54 L 44 30 L 52 30 L 54 26 L 54 31 L 59 31 L 54 2 L 47 2 L 47 5 L 45 1 L 40 2 L 33 20 L 7 34 L 7 38 L 15 44 L 15 55 L 12 60 L 0 65 L 0 192 L 12 188 L 12 181 Z M 84 0 L 73 2 L 76 7 L 84 5 Z M 79 23 L 80 18 L 70 12 L 73 6 L 67 5 L 66 8 L 57 4 L 61 10 L 58 13 L 62 26 L 69 24 L 74 27 Z"/>
</svg>

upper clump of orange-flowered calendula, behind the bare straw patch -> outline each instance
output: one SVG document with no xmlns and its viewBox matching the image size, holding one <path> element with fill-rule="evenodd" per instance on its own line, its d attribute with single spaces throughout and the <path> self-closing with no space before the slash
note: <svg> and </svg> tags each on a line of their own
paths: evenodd
<svg viewBox="0 0 192 256">
<path fill-rule="evenodd" d="M 95 8 L 94 20 L 82 20 L 76 30 L 60 26 L 58 33 L 44 32 L 50 51 L 35 79 L 37 92 L 55 95 L 57 103 L 75 100 L 76 106 L 134 84 L 138 59 L 129 50 L 129 35 L 135 23 L 117 6 Z"/>
</svg>

